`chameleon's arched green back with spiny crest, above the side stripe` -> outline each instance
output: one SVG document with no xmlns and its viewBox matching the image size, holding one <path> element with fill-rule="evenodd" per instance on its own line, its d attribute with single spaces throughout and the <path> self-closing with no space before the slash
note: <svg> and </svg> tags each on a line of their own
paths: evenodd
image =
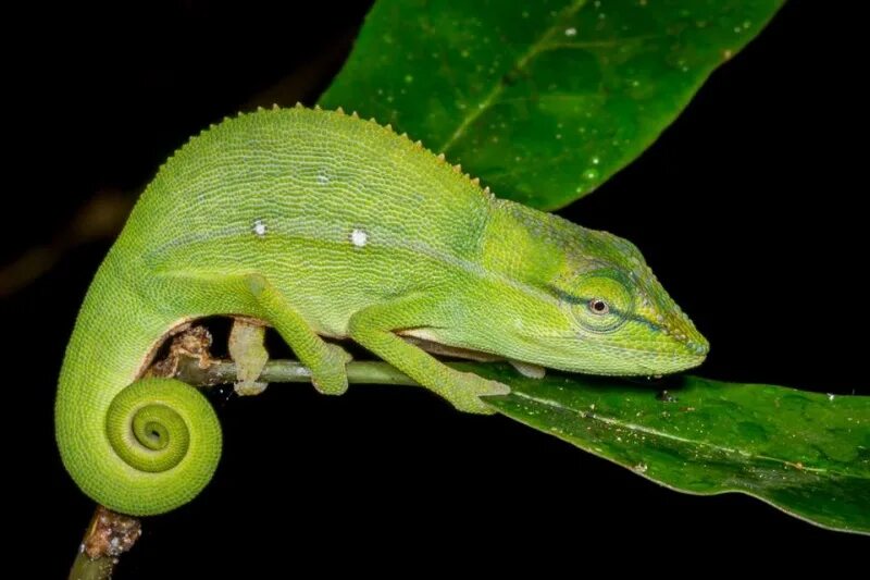
<svg viewBox="0 0 870 580">
<path fill-rule="evenodd" d="M 423 236 L 432 250 L 462 256 L 474 251 L 489 201 L 467 175 L 388 126 L 281 109 L 241 114 L 192 138 L 160 169 L 125 236 L 154 266 L 207 238 L 225 261 L 236 237 L 346 245 L 355 229 L 396 244 Z"/>
</svg>

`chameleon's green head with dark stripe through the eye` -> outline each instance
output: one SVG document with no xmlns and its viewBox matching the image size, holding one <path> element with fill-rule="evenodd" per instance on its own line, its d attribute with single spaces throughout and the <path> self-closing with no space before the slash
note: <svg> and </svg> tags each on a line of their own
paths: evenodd
<svg viewBox="0 0 870 580">
<path fill-rule="evenodd" d="M 616 375 L 666 374 L 704 361 L 707 340 L 633 244 L 555 215 L 543 220 L 538 259 L 527 256 L 523 273 L 538 298 L 511 309 L 513 358 Z"/>
</svg>

